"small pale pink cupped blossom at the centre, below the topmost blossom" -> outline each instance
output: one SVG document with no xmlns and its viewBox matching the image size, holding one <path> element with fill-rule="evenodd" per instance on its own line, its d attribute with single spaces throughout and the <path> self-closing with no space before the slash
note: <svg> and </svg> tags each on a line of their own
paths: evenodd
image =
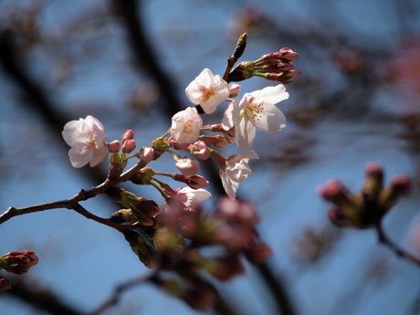
<svg viewBox="0 0 420 315">
<path fill-rule="evenodd" d="M 203 120 L 194 107 L 178 111 L 173 115 L 171 137 L 180 143 L 193 143 L 200 135 Z"/>
</svg>

